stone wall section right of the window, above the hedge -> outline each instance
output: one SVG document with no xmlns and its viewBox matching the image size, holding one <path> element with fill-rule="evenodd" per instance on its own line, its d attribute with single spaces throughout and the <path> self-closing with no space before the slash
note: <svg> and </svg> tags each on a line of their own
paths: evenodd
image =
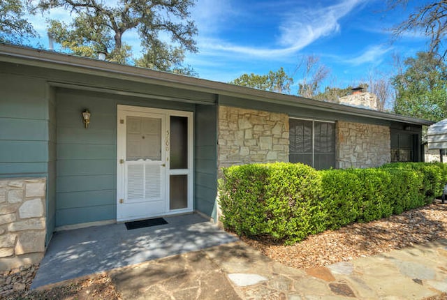
<svg viewBox="0 0 447 300">
<path fill-rule="evenodd" d="M 337 167 L 379 167 L 390 161 L 389 127 L 337 122 Z"/>
</svg>

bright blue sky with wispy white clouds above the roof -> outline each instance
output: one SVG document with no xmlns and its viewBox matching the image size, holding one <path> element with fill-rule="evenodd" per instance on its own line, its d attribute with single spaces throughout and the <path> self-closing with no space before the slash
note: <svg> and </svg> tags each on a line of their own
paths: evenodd
<svg viewBox="0 0 447 300">
<path fill-rule="evenodd" d="M 243 73 L 265 74 L 284 67 L 292 74 L 303 56 L 315 55 L 330 68 L 325 84 L 346 87 L 369 73 L 393 75 L 393 54 L 402 58 L 425 50 L 426 39 L 409 33 L 391 43 L 390 27 L 412 6 L 385 10 L 381 0 L 198 0 L 191 10 L 199 52 L 187 54 L 201 78 L 228 82 Z M 416 6 L 425 1 L 414 1 Z M 46 16 L 47 17 L 47 16 Z M 51 17 L 68 20 L 64 10 Z M 47 45 L 45 17 L 31 17 Z M 135 46 L 138 36 L 124 34 Z M 300 73 L 295 74 L 295 83 Z M 296 93 L 296 88 L 293 88 Z"/>
</svg>

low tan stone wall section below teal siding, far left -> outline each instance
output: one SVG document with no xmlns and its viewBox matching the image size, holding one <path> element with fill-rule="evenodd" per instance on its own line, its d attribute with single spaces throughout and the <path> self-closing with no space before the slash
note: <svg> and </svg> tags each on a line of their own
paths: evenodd
<svg viewBox="0 0 447 300">
<path fill-rule="evenodd" d="M 0 271 L 41 261 L 45 185 L 45 178 L 0 179 Z"/>
</svg>

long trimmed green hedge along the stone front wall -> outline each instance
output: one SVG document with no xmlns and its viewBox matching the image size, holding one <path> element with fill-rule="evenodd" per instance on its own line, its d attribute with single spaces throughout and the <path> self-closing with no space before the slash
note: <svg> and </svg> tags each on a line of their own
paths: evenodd
<svg viewBox="0 0 447 300">
<path fill-rule="evenodd" d="M 316 171 L 300 163 L 238 165 L 219 181 L 222 223 L 248 237 L 294 243 L 432 202 L 447 182 L 440 163 Z"/>
</svg>

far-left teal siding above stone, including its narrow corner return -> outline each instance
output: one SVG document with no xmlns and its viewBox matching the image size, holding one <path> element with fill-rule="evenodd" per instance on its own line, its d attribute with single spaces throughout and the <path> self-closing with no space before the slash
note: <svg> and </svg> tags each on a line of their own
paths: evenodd
<svg viewBox="0 0 447 300">
<path fill-rule="evenodd" d="M 0 177 L 47 177 L 46 244 L 54 230 L 56 123 L 45 80 L 0 74 Z"/>
</svg>

